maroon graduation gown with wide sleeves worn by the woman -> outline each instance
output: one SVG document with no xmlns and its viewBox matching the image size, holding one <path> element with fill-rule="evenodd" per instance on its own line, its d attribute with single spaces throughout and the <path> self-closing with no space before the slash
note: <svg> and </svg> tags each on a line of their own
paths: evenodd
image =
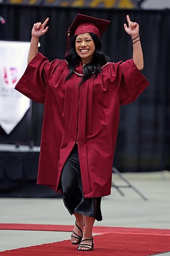
<svg viewBox="0 0 170 256">
<path fill-rule="evenodd" d="M 44 103 L 37 183 L 61 189 L 60 177 L 76 141 L 84 197 L 110 195 L 119 107 L 134 101 L 149 82 L 133 59 L 108 62 L 98 77 L 78 86 L 82 65 L 68 81 L 65 60 L 38 53 L 15 89 Z"/>
</svg>

